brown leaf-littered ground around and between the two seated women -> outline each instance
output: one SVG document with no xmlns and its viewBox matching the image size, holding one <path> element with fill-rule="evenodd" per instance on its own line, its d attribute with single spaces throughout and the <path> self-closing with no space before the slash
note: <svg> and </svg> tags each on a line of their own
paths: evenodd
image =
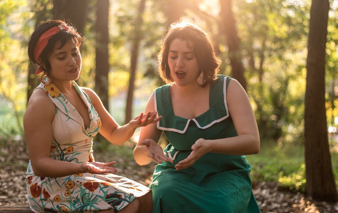
<svg viewBox="0 0 338 213">
<path fill-rule="evenodd" d="M 29 161 L 24 141 L 0 143 L 0 206 L 27 204 L 25 172 Z M 148 186 L 155 163 L 139 166 L 132 158 L 132 147 L 120 146 L 113 152 L 95 151 L 96 161 L 115 160 L 117 174 Z M 338 203 L 318 202 L 304 194 L 288 191 L 276 183 L 255 182 L 252 188 L 262 212 L 338 212 Z"/>
</svg>

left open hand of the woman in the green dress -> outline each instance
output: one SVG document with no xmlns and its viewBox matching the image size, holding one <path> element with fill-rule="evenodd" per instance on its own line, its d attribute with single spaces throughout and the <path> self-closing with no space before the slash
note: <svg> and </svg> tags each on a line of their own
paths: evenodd
<svg viewBox="0 0 338 213">
<path fill-rule="evenodd" d="M 155 162 L 161 164 L 162 161 L 165 162 L 171 162 L 173 163 L 174 161 L 165 156 L 165 152 L 163 151 L 162 147 L 157 144 L 154 140 L 152 139 L 147 139 L 141 142 L 142 145 L 147 147 L 147 155 L 149 158 L 153 159 Z"/>
</svg>

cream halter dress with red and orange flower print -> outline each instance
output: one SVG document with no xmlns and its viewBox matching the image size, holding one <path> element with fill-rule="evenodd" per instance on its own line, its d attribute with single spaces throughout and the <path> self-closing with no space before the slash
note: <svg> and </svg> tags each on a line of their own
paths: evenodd
<svg viewBox="0 0 338 213">
<path fill-rule="evenodd" d="M 74 81 L 72 85 L 88 107 L 91 121 L 87 129 L 76 109 L 54 84 L 37 87 L 42 88 L 56 106 L 50 158 L 74 163 L 94 162 L 92 138 L 98 133 L 101 120 L 89 96 Z M 33 212 L 97 212 L 107 209 L 117 212 L 150 191 L 148 187 L 115 174 L 39 177 L 34 174 L 30 161 L 26 184 L 28 203 Z"/>
</svg>

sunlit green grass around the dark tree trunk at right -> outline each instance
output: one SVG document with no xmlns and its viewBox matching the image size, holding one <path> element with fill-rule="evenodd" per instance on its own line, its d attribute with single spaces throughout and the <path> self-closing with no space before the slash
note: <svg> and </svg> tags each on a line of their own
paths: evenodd
<svg viewBox="0 0 338 213">
<path fill-rule="evenodd" d="M 280 187 L 305 192 L 303 145 L 289 143 L 279 148 L 274 142 L 263 141 L 260 152 L 246 156 L 246 159 L 252 168 L 250 175 L 253 181 L 276 182 Z M 331 162 L 338 186 L 337 150 L 332 149 Z"/>
</svg>

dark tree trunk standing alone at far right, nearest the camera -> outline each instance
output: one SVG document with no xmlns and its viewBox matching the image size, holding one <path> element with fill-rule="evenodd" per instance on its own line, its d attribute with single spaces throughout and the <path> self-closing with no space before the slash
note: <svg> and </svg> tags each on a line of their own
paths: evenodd
<svg viewBox="0 0 338 213">
<path fill-rule="evenodd" d="M 325 110 L 325 48 L 328 0 L 312 0 L 305 93 L 306 192 L 314 199 L 337 201 Z"/>
</svg>

